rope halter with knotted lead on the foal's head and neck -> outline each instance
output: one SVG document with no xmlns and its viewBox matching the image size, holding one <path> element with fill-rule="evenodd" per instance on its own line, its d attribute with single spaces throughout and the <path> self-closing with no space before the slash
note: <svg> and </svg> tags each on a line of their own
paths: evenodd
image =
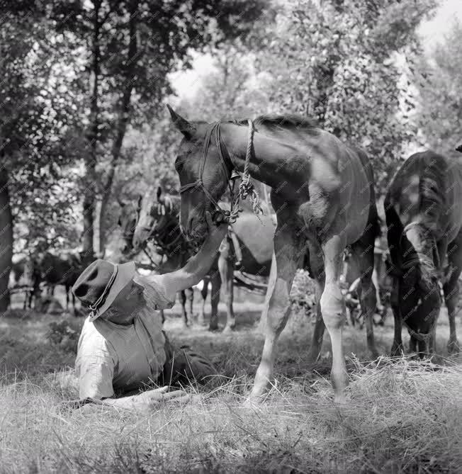
<svg viewBox="0 0 462 474">
<path fill-rule="evenodd" d="M 232 122 L 236 125 L 239 125 L 237 122 Z M 261 209 L 259 203 L 259 196 L 257 191 L 254 188 L 254 185 L 250 179 L 249 175 L 249 163 L 250 159 L 253 154 L 253 141 L 254 141 L 254 123 L 252 120 L 247 120 L 248 124 L 248 135 L 247 135 L 247 151 L 245 155 L 245 164 L 244 164 L 244 171 L 241 175 L 242 181 L 239 186 L 239 191 L 235 198 L 234 196 L 234 177 L 232 171 L 235 169 L 234 165 L 232 164 L 230 154 L 227 151 L 225 143 L 221 140 L 221 133 L 220 133 L 220 122 L 215 122 L 210 124 L 207 132 L 205 132 L 204 144 L 202 149 L 202 157 L 201 157 L 201 164 L 199 167 L 199 174 L 198 179 L 193 181 L 193 183 L 184 184 L 181 186 L 180 193 L 184 193 L 190 189 L 201 189 L 205 196 L 208 198 L 208 201 L 213 205 L 214 213 L 213 213 L 213 220 L 215 223 L 220 222 L 227 222 L 228 224 L 232 224 L 236 222 L 237 218 L 239 217 L 239 213 L 242 212 L 242 208 L 240 208 L 240 200 L 244 200 L 247 196 L 250 196 L 252 200 L 252 207 L 254 209 L 254 213 L 258 215 L 259 213 L 263 214 L 263 210 Z M 230 210 L 225 210 L 220 208 L 217 200 L 212 196 L 212 193 L 205 187 L 203 182 L 203 171 L 205 169 L 205 162 L 207 160 L 208 148 L 210 147 L 210 142 L 212 139 L 212 135 L 215 135 L 215 142 L 218 148 L 218 156 L 220 157 L 220 164 L 222 166 L 223 171 L 225 172 L 225 178 L 227 186 L 230 190 L 231 196 L 231 208 Z M 237 172 L 237 176 L 239 176 L 239 172 Z M 232 185 L 230 181 L 233 181 Z"/>
</svg>

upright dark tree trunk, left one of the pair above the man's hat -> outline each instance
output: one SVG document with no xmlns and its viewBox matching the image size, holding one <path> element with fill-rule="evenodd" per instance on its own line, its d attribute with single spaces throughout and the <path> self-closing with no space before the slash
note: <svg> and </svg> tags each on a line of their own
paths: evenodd
<svg viewBox="0 0 462 474">
<path fill-rule="evenodd" d="M 93 79 L 90 106 L 90 130 L 88 140 L 90 152 L 86 157 L 86 186 L 84 190 L 84 234 L 82 235 L 82 246 L 84 252 L 94 253 L 94 211 L 96 197 L 96 162 L 98 160 L 98 125 L 99 125 L 99 77 L 100 71 L 100 47 L 99 36 L 101 23 L 99 21 L 99 11 L 101 0 L 94 2 L 94 23 L 93 23 L 93 57 L 91 61 L 91 74 Z"/>
</svg>

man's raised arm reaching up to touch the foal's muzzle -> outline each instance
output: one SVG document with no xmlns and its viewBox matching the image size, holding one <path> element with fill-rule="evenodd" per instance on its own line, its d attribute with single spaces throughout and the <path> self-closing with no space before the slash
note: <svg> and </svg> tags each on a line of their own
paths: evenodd
<svg viewBox="0 0 462 474">
<path fill-rule="evenodd" d="M 173 300 L 179 291 L 197 285 L 207 275 L 222 239 L 226 236 L 227 225 L 217 227 L 213 224 L 210 213 L 205 213 L 205 218 L 209 233 L 199 252 L 189 259 L 183 268 L 158 276 L 158 278 L 162 278 L 170 300 Z"/>
</svg>

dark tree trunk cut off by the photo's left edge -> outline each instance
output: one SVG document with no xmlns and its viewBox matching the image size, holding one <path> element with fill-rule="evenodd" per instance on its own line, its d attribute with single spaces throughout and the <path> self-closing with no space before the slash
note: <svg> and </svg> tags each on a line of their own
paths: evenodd
<svg viewBox="0 0 462 474">
<path fill-rule="evenodd" d="M 13 256 L 13 215 L 8 191 L 8 171 L 0 168 L 0 312 L 6 311 L 10 295 L 8 282 Z"/>
</svg>

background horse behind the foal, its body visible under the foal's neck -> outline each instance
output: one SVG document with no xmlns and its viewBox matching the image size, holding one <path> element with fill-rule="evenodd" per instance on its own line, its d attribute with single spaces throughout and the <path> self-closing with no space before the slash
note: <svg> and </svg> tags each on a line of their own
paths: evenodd
<svg viewBox="0 0 462 474">
<path fill-rule="evenodd" d="M 133 243 L 137 248 L 151 236 L 165 252 L 167 261 L 162 271 L 174 271 L 183 266 L 196 253 L 196 248 L 186 240 L 179 227 L 180 197 L 162 193 L 157 189 L 154 200 L 150 193 L 143 199 L 140 216 L 135 230 Z M 272 236 L 274 225 L 271 218 L 263 216 L 262 222 L 253 214 L 244 214 L 242 222 L 233 225 L 235 235 L 242 252 L 240 271 L 249 275 L 269 276 L 271 255 L 273 253 Z M 198 322 L 204 320 L 204 304 L 208 293 L 208 280 L 212 283 L 212 314 L 210 330 L 218 329 L 218 303 L 221 288 L 225 291 L 227 320 L 224 331 L 235 327 L 235 315 L 232 308 L 233 286 L 235 283 L 246 286 L 246 282 L 235 279 L 235 250 L 231 237 L 226 237 L 219 249 L 208 279 L 201 290 L 203 304 Z M 249 285 L 250 286 L 250 285 Z"/>
</svg>

